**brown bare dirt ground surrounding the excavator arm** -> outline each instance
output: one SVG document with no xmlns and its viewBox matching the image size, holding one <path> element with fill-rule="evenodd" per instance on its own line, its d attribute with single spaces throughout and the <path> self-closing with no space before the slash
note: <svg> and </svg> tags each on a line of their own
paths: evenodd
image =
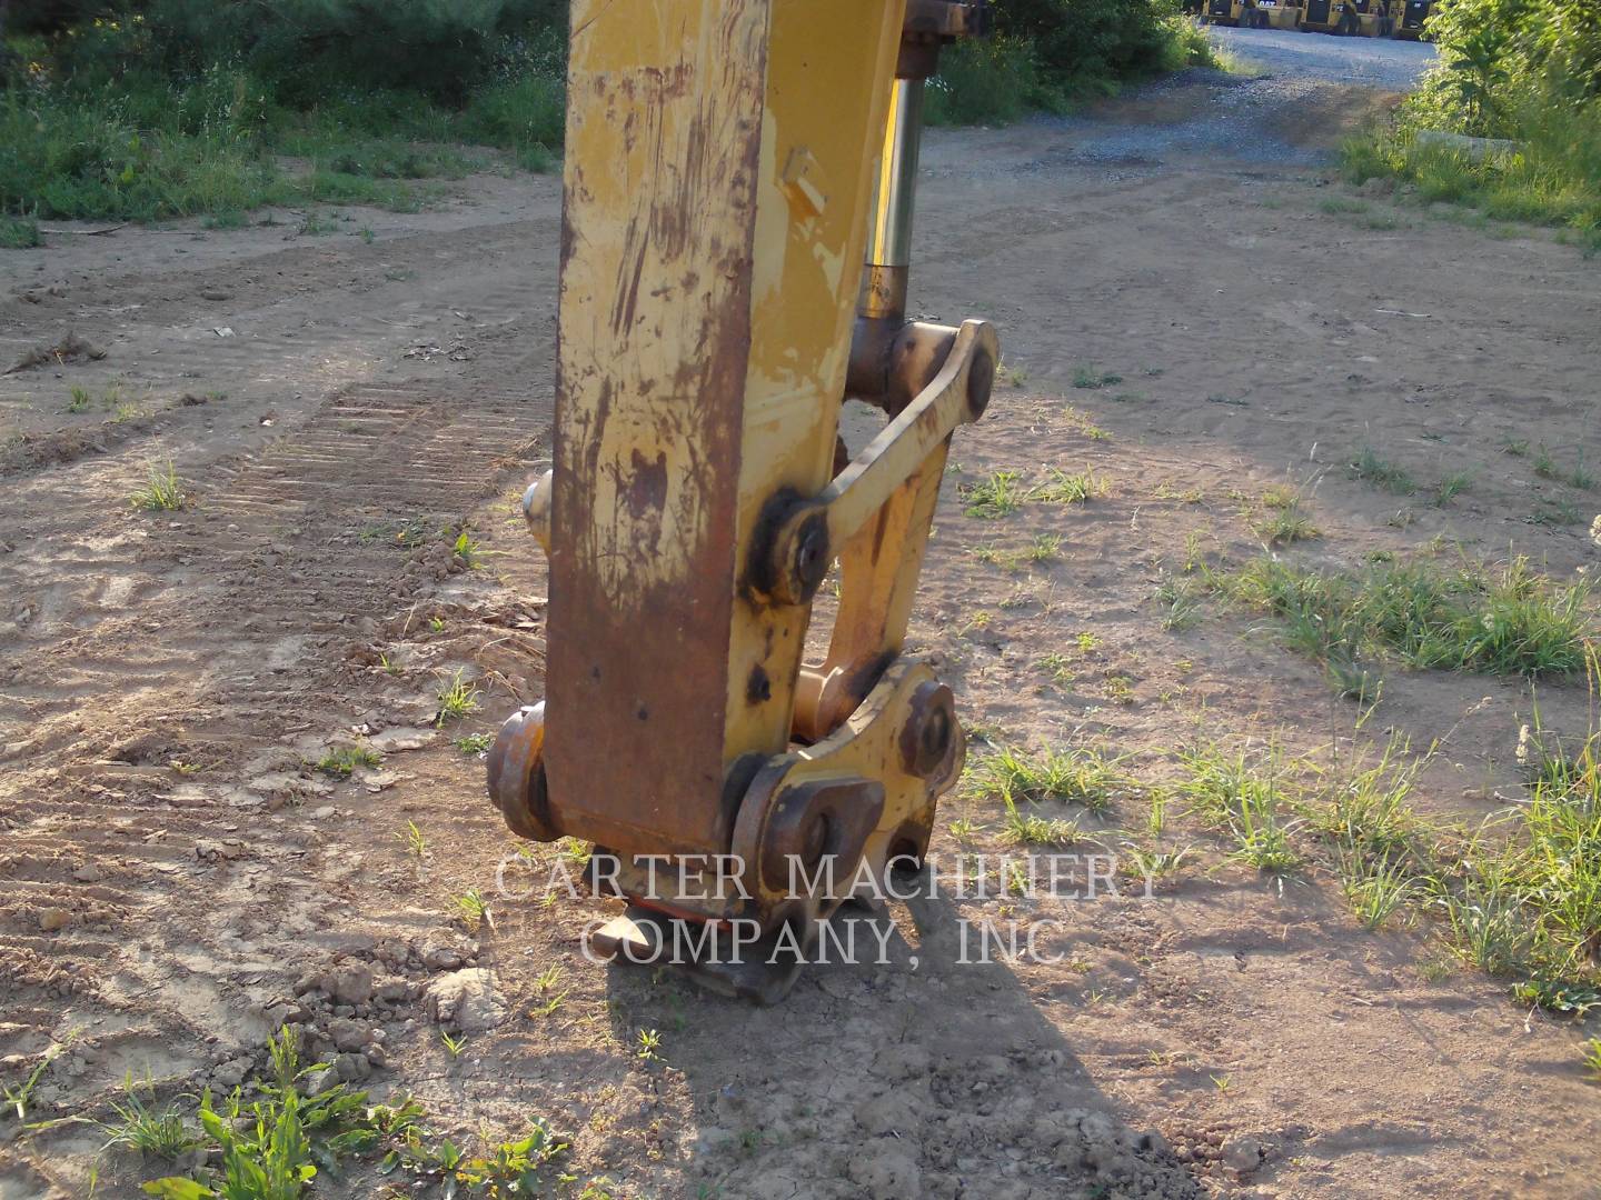
<svg viewBox="0 0 1601 1200">
<path fill-rule="evenodd" d="M 957 434 L 911 648 L 989 739 L 1105 746 L 1146 781 L 1196 739 L 1335 766 L 1438 741 L 1415 802 L 1476 822 L 1519 790 L 1524 685 L 1394 670 L 1358 730 L 1270 624 L 1207 610 L 1164 632 L 1153 592 L 1191 538 L 1258 554 L 1271 485 L 1303 493 L 1322 536 L 1294 554 L 1314 563 L 1460 547 L 1587 570 L 1595 496 L 1503 448 L 1601 456 L 1601 275 L 1543 234 L 1353 197 L 1327 147 L 1374 98 L 1286 94 L 1185 77 L 930 136 L 914 304 L 993 318 L 1010 382 Z M 1206 112 L 1278 149 L 1191 146 Z M 104 350 L 0 378 L 0 1082 L 70 1040 L 32 1118 L 104 1114 L 130 1074 L 163 1094 L 250 1078 L 295 1021 L 458 1141 L 548 1118 L 618 1197 L 1601 1195 L 1593 1029 L 1444 968 L 1426 925 L 1359 931 L 1322 870 L 1281 888 L 1230 864 L 1177 810 L 1166 843 L 1196 853 L 1154 899 L 922 899 L 893 965 L 810 970 L 781 1008 L 584 962 L 608 906 L 500 898 L 516 843 L 455 744 L 541 693 L 544 566 L 512 502 L 548 459 L 559 182 L 480 176 L 423 214 L 298 226 L 0 258 L 3 362 L 69 331 Z M 1348 478 L 1364 445 L 1423 491 Z M 168 461 L 191 504 L 131 512 Z M 964 515 L 954 485 L 1052 466 L 1106 494 Z M 1471 486 L 1434 504 L 1455 470 Z M 492 552 L 479 570 L 439 536 L 459 526 Z M 1055 562 L 975 555 L 1045 533 Z M 458 670 L 482 707 L 435 731 Z M 1582 722 L 1583 686 L 1540 706 Z M 306 765 L 357 734 L 379 768 Z M 993 806 L 943 813 L 937 854 L 961 854 L 962 814 L 999 850 Z M 1116 848 L 1145 822 L 1130 798 L 1085 826 Z M 557 859 L 525 850 L 512 885 Z M 469 888 L 492 902 L 477 936 L 451 901 Z M 957 963 L 957 922 L 986 917 L 1039 923 L 1063 960 Z M 421 990 L 463 965 L 504 1013 L 453 1056 Z M 88 1195 L 102 1141 L 0 1117 L 0 1198 Z M 98 1195 L 163 1170 L 109 1152 Z M 357 1170 L 315 1194 L 384 1186 Z"/>
</svg>

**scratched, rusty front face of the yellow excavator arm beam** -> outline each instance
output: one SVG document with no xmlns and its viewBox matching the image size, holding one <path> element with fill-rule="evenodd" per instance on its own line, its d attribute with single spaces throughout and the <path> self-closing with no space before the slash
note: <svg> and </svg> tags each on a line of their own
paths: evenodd
<svg viewBox="0 0 1601 1200">
<path fill-rule="evenodd" d="M 768 5 L 572 21 L 551 806 L 624 851 L 714 850 Z"/>
</svg>

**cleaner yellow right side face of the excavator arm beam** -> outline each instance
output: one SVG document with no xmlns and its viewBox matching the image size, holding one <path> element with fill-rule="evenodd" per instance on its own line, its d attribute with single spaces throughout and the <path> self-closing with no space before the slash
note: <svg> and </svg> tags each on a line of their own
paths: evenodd
<svg viewBox="0 0 1601 1200">
<path fill-rule="evenodd" d="M 751 542 L 776 488 L 815 496 L 833 474 L 873 173 L 903 19 L 903 0 L 773 6 L 762 150 L 775 173 L 757 200 L 741 546 Z M 797 155 L 828 197 L 821 213 L 784 186 L 781 171 Z M 788 747 L 809 619 L 810 605 L 772 608 L 738 598 L 727 680 L 730 758 Z M 749 704 L 757 669 L 772 682 L 772 699 Z"/>
</svg>

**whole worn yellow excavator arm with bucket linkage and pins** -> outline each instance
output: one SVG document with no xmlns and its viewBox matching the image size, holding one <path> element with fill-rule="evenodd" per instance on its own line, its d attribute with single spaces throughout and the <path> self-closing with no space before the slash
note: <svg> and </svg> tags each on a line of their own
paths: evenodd
<svg viewBox="0 0 1601 1200">
<path fill-rule="evenodd" d="M 514 832 L 594 843 L 592 885 L 629 901 L 599 954 L 773 1002 L 821 922 L 921 862 L 961 773 L 951 691 L 901 643 L 999 349 L 908 322 L 906 288 L 924 80 L 985 16 L 573 3 L 554 467 L 524 501 L 546 699 L 488 787 Z M 849 461 L 847 395 L 890 418 Z"/>
</svg>

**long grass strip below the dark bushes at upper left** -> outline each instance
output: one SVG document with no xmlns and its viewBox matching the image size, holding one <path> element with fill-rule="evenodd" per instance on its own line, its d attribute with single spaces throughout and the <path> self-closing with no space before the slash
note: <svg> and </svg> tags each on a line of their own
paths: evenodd
<svg viewBox="0 0 1601 1200">
<path fill-rule="evenodd" d="M 266 205 L 408 213 L 435 197 L 427 181 L 488 165 L 439 142 L 503 147 L 525 170 L 549 170 L 562 136 L 562 77 L 549 64 L 482 85 L 459 109 L 383 90 L 288 107 L 237 66 L 171 80 L 128 70 L 104 88 L 62 78 L 0 93 L 0 211 L 30 214 L 8 219 L 0 242 L 37 238 L 34 218 L 203 216 L 239 229 Z"/>
</svg>

